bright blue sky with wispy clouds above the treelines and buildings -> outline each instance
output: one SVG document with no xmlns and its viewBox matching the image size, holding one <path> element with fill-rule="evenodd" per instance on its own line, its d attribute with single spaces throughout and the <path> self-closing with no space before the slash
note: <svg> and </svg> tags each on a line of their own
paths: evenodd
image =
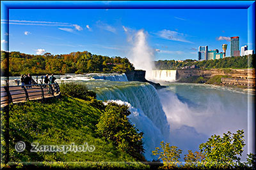
<svg viewBox="0 0 256 170">
<path fill-rule="evenodd" d="M 229 56 L 228 37 L 239 36 L 241 47 L 247 43 L 248 31 L 245 9 L 11 9 L 9 20 L 11 52 L 88 51 L 127 57 L 129 38 L 143 29 L 155 60 L 197 59 L 198 46 L 222 52 L 223 43 L 228 44 Z"/>
</svg>

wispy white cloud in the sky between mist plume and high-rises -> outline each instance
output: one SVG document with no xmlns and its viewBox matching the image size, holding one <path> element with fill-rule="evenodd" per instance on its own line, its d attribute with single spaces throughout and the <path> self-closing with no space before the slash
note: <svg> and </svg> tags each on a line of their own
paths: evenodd
<svg viewBox="0 0 256 170">
<path fill-rule="evenodd" d="M 186 40 L 186 34 L 177 32 L 177 31 L 170 31 L 167 29 L 164 29 L 162 31 L 158 31 L 156 33 L 159 37 L 164 38 L 164 39 L 169 39 L 172 41 L 181 41 L 181 42 L 185 42 L 185 43 L 193 43 L 191 41 Z"/>
</svg>

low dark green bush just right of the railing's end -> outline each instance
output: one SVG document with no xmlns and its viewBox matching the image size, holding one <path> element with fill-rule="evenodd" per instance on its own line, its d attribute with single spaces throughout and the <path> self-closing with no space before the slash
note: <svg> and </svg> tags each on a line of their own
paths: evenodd
<svg viewBox="0 0 256 170">
<path fill-rule="evenodd" d="M 60 91 L 61 94 L 65 96 L 77 97 L 86 101 L 90 101 L 92 98 L 96 98 L 96 93 L 88 90 L 86 85 L 82 83 L 61 83 Z"/>
</svg>

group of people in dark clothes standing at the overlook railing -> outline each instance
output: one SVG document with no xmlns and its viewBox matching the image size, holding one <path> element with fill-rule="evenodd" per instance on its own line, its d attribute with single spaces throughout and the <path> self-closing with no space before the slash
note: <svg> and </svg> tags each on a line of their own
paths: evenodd
<svg viewBox="0 0 256 170">
<path fill-rule="evenodd" d="M 41 76 L 42 81 L 40 83 L 54 83 L 54 81 L 56 80 L 56 78 L 53 76 L 53 74 L 51 74 L 50 78 L 48 76 L 48 74 L 46 74 L 45 76 Z M 33 80 L 32 76 L 28 73 L 28 75 L 26 74 L 21 74 L 20 75 L 20 83 L 22 85 L 22 88 L 24 87 L 24 85 L 26 85 L 26 88 L 32 88 L 32 84 L 38 84 L 38 76 L 36 76 L 36 81 Z"/>
</svg>

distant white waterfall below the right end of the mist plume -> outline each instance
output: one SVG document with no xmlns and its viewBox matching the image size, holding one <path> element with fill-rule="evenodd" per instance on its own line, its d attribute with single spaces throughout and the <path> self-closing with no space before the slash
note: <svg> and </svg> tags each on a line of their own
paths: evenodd
<svg viewBox="0 0 256 170">
<path fill-rule="evenodd" d="M 153 70 L 150 80 L 173 82 L 176 80 L 176 73 L 176 70 Z"/>
</svg>

